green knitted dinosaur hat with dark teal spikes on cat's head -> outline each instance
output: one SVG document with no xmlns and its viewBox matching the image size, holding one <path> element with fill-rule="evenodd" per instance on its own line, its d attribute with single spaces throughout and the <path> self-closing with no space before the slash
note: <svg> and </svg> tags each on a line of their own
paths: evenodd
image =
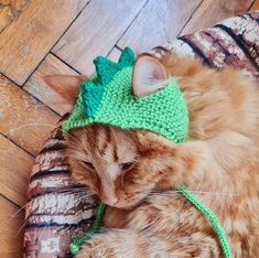
<svg viewBox="0 0 259 258">
<path fill-rule="evenodd" d="M 185 140 L 188 114 L 175 79 L 170 79 L 166 88 L 138 98 L 131 89 L 134 54 L 129 47 L 118 63 L 101 56 L 94 63 L 96 75 L 82 83 L 74 111 L 63 122 L 65 132 L 100 122 L 147 129 L 177 143 Z"/>
</svg>

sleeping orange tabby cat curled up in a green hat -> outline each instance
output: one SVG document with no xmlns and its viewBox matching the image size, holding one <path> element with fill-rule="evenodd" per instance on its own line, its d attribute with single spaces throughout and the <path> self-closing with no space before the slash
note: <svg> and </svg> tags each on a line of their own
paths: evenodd
<svg viewBox="0 0 259 258">
<path fill-rule="evenodd" d="M 217 215 L 233 257 L 259 257 L 259 89 L 231 68 L 168 54 L 138 58 L 133 92 L 151 94 L 169 76 L 188 107 L 185 143 L 98 123 L 69 131 L 73 178 L 109 205 L 109 229 L 76 257 L 223 257 L 212 225 L 175 191 L 180 183 Z"/>
</svg>

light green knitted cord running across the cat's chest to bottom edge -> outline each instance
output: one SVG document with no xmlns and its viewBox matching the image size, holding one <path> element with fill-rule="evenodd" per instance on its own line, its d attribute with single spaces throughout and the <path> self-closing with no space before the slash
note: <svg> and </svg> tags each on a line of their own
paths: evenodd
<svg viewBox="0 0 259 258">
<path fill-rule="evenodd" d="M 217 216 L 211 211 L 204 203 L 202 203 L 190 190 L 184 185 L 179 185 L 176 189 L 191 202 L 196 208 L 198 208 L 204 216 L 211 222 L 214 230 L 217 234 L 219 245 L 223 249 L 225 258 L 231 258 L 230 247 L 227 241 L 226 233 L 217 219 Z"/>
</svg>

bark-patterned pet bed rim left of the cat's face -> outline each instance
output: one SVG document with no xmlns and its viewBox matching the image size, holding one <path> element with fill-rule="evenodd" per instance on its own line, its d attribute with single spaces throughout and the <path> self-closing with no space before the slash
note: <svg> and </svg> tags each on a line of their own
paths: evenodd
<svg viewBox="0 0 259 258">
<path fill-rule="evenodd" d="M 35 159 L 26 205 L 24 257 L 68 257 L 72 238 L 89 227 L 93 195 L 72 182 L 63 154 L 64 138 L 55 129 Z"/>
</svg>

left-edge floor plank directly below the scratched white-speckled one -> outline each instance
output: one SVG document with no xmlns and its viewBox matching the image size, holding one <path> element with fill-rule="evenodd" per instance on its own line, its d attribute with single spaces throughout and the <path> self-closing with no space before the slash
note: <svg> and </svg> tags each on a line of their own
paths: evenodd
<svg viewBox="0 0 259 258">
<path fill-rule="evenodd" d="M 20 206 L 26 202 L 33 161 L 32 155 L 0 135 L 0 193 Z"/>
</svg>

